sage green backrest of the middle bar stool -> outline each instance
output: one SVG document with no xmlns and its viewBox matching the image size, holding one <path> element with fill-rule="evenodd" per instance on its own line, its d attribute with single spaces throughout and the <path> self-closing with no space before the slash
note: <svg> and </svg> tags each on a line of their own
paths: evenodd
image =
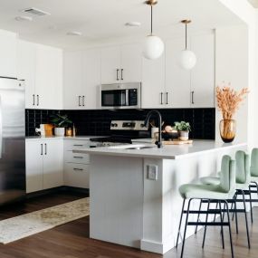
<svg viewBox="0 0 258 258">
<path fill-rule="evenodd" d="M 249 184 L 250 176 L 250 158 L 243 150 L 235 153 L 235 182 L 238 184 Z"/>
</svg>

